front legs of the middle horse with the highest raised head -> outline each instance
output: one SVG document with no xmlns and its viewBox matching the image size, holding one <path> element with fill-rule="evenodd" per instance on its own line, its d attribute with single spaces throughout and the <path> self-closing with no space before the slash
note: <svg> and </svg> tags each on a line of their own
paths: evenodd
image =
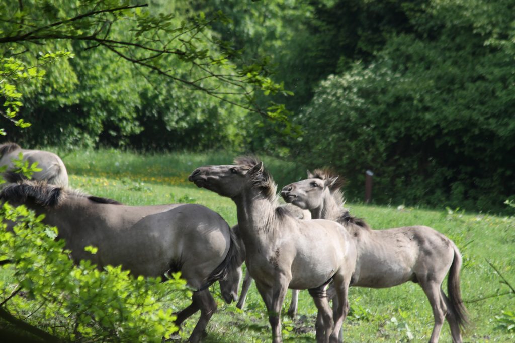
<svg viewBox="0 0 515 343">
<path fill-rule="evenodd" d="M 256 280 L 258 291 L 265 302 L 268 311 L 268 321 L 272 329 L 272 343 L 281 343 L 281 309 L 283 306 L 286 292 L 288 291 L 288 284 L 291 277 L 284 274 L 276 275 L 276 280 L 272 287 L 259 283 Z"/>
</svg>

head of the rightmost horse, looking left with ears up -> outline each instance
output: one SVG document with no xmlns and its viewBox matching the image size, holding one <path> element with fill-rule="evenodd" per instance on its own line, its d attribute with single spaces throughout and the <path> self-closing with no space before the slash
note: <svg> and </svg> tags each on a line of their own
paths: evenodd
<svg viewBox="0 0 515 343">
<path fill-rule="evenodd" d="M 281 196 L 284 201 L 304 210 L 314 210 L 323 204 L 325 192 L 330 192 L 338 176 L 321 179 L 307 171 L 307 179 L 284 186 Z"/>
</svg>

